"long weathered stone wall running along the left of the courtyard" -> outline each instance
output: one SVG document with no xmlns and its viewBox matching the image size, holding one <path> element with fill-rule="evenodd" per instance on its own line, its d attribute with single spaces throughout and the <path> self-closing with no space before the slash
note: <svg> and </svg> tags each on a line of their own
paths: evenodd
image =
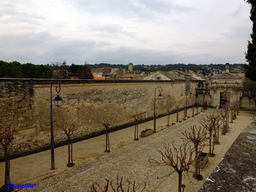
<svg viewBox="0 0 256 192">
<path fill-rule="evenodd" d="M 25 138 L 13 143 L 15 154 L 48 147 L 50 145 L 50 86 L 53 80 L 0 79 L 0 128 L 15 128 L 15 137 Z M 81 124 L 77 138 L 101 132 L 97 124 L 102 116 L 115 116 L 116 128 L 133 123 L 128 116 L 132 110 L 143 112 L 143 118 L 152 118 L 154 92 L 162 87 L 162 99 L 156 100 L 157 116 L 166 113 L 166 106 L 186 103 L 185 81 L 110 81 L 110 80 L 59 80 L 61 107 L 53 104 L 55 143 L 66 141 L 66 135 L 58 130 L 65 122 Z M 197 82 L 191 83 L 195 103 Z M 52 86 L 52 99 L 57 95 Z M 156 90 L 158 98 L 159 89 Z M 188 105 L 190 97 L 188 96 Z M 153 128 L 153 124 L 152 124 Z M 3 157 L 3 150 L 0 151 Z"/>
</svg>

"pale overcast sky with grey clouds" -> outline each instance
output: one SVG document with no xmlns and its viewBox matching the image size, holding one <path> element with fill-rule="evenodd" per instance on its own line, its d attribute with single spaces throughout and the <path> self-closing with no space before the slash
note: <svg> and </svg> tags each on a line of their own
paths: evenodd
<svg viewBox="0 0 256 192">
<path fill-rule="evenodd" d="M 0 60 L 246 63 L 243 0 L 1 0 Z"/>
</svg>

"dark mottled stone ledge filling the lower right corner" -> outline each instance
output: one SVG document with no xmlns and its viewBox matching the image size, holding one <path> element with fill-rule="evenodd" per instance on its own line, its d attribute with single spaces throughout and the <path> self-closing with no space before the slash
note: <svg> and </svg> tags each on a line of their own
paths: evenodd
<svg viewBox="0 0 256 192">
<path fill-rule="evenodd" d="M 256 120 L 240 133 L 198 192 L 255 190 L 255 128 Z"/>
</svg>

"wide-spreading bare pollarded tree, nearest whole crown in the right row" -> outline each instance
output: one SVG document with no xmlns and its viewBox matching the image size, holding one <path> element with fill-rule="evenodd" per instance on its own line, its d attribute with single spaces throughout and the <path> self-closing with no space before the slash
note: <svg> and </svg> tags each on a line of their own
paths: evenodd
<svg viewBox="0 0 256 192">
<path fill-rule="evenodd" d="M 187 144 L 188 143 L 183 142 L 183 145 L 181 145 L 180 148 L 178 149 L 174 146 L 174 141 L 172 142 L 172 149 L 169 147 L 169 144 L 164 144 L 165 151 L 162 152 L 161 150 L 158 150 L 158 152 L 162 156 L 160 161 L 153 159 L 151 156 L 149 156 L 150 159 L 148 159 L 149 164 L 151 166 L 168 165 L 174 169 L 170 174 L 164 175 L 162 177 L 157 177 L 157 179 L 167 177 L 173 174 L 175 171 L 178 173 L 179 175 L 178 192 L 181 192 L 182 172 L 183 171 L 187 172 L 187 175 L 188 175 L 188 172 L 192 172 L 192 171 L 189 171 L 190 165 L 193 164 L 196 161 L 196 159 L 198 159 L 198 156 L 195 156 L 194 158 L 192 158 L 192 155 L 195 149 L 191 148 L 191 146 L 187 146 Z M 201 153 L 201 149 L 199 150 L 198 154 L 200 153 Z"/>
</svg>

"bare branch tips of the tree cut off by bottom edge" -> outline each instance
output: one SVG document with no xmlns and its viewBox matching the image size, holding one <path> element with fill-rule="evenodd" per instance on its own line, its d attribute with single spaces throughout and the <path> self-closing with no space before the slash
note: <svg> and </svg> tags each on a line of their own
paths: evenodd
<svg viewBox="0 0 256 192">
<path fill-rule="evenodd" d="M 101 188 L 99 184 L 95 183 L 99 187 L 100 191 L 102 191 L 102 192 L 107 192 L 108 191 L 109 180 L 108 179 L 106 179 L 106 180 L 107 180 L 107 184 L 105 185 L 104 188 Z M 125 185 L 126 182 L 127 182 L 127 190 L 124 189 L 124 185 Z M 99 189 L 97 189 L 96 185 L 94 185 L 94 183 L 92 183 L 91 192 L 99 192 Z M 119 190 L 122 191 L 122 192 L 124 192 L 124 191 L 129 192 L 130 191 L 130 181 L 128 180 L 128 178 L 127 178 L 127 180 L 125 180 L 123 182 L 123 177 L 121 177 L 121 180 L 119 181 L 119 178 L 117 176 L 116 188 L 113 186 L 112 181 L 110 181 L 110 186 L 111 186 L 111 188 L 114 192 L 119 192 Z M 135 181 L 133 182 L 132 186 L 133 187 L 132 187 L 131 191 L 136 192 L 135 191 Z M 144 184 L 144 187 L 139 192 L 142 192 L 145 188 L 146 188 L 146 182 Z"/>
</svg>

